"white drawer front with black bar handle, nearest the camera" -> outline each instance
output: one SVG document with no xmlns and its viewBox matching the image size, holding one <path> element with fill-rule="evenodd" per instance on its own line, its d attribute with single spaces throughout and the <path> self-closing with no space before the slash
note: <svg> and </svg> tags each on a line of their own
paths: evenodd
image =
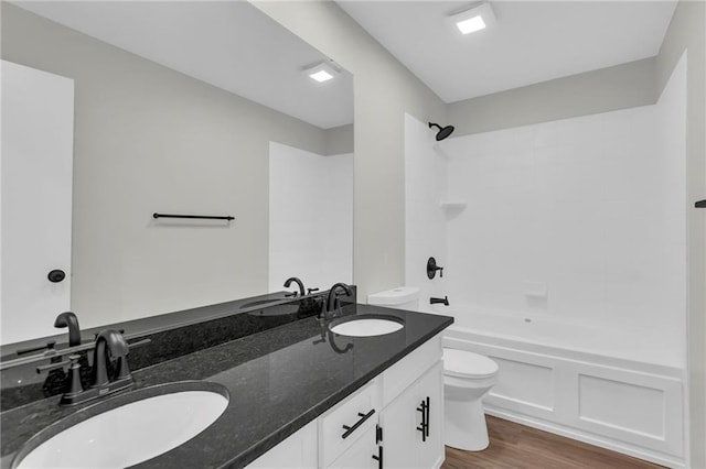
<svg viewBox="0 0 706 469">
<path fill-rule="evenodd" d="M 320 462 L 324 467 L 377 423 L 381 408 L 378 384 L 378 380 L 371 381 L 320 418 Z"/>
</svg>

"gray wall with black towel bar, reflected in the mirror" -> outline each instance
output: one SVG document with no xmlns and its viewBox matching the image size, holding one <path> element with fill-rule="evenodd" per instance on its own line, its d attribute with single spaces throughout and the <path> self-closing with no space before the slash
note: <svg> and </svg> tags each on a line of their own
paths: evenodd
<svg viewBox="0 0 706 469">
<path fill-rule="evenodd" d="M 75 80 L 83 326 L 267 291 L 269 141 L 322 154 L 324 131 L 4 2 L 2 58 Z M 158 223 L 154 211 L 236 219 Z"/>
</svg>

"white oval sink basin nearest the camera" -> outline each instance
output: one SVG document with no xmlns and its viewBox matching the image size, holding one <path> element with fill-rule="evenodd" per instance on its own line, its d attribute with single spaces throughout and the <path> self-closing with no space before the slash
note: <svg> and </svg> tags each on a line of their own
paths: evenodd
<svg viewBox="0 0 706 469">
<path fill-rule="evenodd" d="M 167 452 L 203 432 L 228 405 L 225 388 L 218 392 L 199 390 L 197 384 L 203 383 L 184 384 L 196 385 L 185 386 L 185 390 L 184 386 L 174 386 L 171 388 L 173 391 L 162 386 L 167 394 L 145 399 L 139 396 L 154 392 L 143 391 L 154 388 L 136 391 L 130 393 L 132 396 L 125 394 L 116 399 L 130 400 L 137 396 L 137 401 L 100 412 L 68 428 L 54 432 L 54 435 L 51 435 L 52 427 L 49 427 L 49 439 L 29 451 L 13 467 L 125 468 Z M 86 412 L 90 413 L 90 410 Z M 61 423 L 54 426 L 63 427 Z M 36 437 L 45 439 L 47 435 L 40 433 Z M 31 444 L 28 443 L 28 446 Z"/>
</svg>

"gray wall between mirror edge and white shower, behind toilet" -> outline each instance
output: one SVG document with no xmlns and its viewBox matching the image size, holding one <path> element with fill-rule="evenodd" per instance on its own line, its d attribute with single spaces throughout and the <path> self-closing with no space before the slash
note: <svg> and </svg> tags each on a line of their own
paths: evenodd
<svg viewBox="0 0 706 469">
<path fill-rule="evenodd" d="M 354 76 L 353 279 L 359 295 L 405 281 L 404 113 L 446 106 L 332 1 L 253 1 Z"/>
</svg>

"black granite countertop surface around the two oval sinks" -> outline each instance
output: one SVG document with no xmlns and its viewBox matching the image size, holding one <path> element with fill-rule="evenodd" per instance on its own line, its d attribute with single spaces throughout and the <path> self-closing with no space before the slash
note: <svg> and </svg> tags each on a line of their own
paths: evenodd
<svg viewBox="0 0 706 469">
<path fill-rule="evenodd" d="M 384 336 L 343 337 L 309 317 L 133 372 L 135 389 L 203 380 L 224 385 L 231 396 L 224 414 L 204 432 L 136 467 L 243 467 L 453 323 L 446 316 L 360 304 L 346 306 L 343 314 L 393 315 L 405 327 Z M 3 412 L 2 468 L 38 432 L 79 408 L 109 400 L 120 405 L 121 397 L 60 407 L 53 396 Z"/>
</svg>

